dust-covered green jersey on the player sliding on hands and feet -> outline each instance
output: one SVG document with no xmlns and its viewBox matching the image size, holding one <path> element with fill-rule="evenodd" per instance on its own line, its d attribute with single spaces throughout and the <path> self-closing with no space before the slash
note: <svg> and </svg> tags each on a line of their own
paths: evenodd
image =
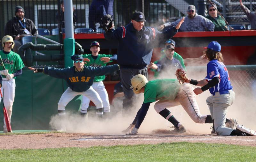
<svg viewBox="0 0 256 162">
<path fill-rule="evenodd" d="M 144 90 L 143 103 L 155 102 L 157 100 L 173 101 L 180 90 L 177 79 L 156 79 L 149 81 Z"/>
</svg>

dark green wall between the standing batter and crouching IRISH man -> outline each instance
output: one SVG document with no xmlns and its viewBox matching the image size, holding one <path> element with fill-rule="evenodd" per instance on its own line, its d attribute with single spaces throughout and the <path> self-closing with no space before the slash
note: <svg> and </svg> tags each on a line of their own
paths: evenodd
<svg viewBox="0 0 256 162">
<path fill-rule="evenodd" d="M 67 89 L 66 81 L 23 68 L 22 75 L 16 77 L 15 82 L 12 129 L 50 129 L 51 117 L 58 114 L 58 101 Z M 77 112 L 80 104 L 81 97 L 77 96 L 68 103 L 66 110 Z M 0 107 L 3 107 L 2 101 Z M 0 113 L 0 117 L 2 131 L 3 113 Z"/>
</svg>

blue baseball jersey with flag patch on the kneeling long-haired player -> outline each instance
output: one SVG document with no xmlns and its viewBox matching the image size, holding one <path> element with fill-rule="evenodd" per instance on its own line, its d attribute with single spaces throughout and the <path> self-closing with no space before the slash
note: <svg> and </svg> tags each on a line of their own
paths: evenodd
<svg viewBox="0 0 256 162">
<path fill-rule="evenodd" d="M 207 64 L 207 76 L 205 80 L 210 81 L 214 77 L 219 77 L 220 82 L 209 89 L 211 94 L 213 94 L 213 92 L 227 91 L 233 88 L 230 83 L 227 67 L 218 60 L 212 60 Z"/>
</svg>

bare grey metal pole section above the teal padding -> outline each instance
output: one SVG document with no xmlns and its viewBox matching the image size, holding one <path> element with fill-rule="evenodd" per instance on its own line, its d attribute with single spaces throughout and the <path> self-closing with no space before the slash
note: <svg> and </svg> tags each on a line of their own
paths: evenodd
<svg viewBox="0 0 256 162">
<path fill-rule="evenodd" d="M 74 39 L 73 3 L 72 0 L 64 0 L 65 38 Z"/>
</svg>

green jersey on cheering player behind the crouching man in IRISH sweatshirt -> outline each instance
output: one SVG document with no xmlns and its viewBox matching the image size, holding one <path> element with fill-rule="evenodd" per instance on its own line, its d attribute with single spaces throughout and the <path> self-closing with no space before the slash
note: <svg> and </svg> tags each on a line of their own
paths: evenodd
<svg viewBox="0 0 256 162">
<path fill-rule="evenodd" d="M 86 66 L 92 66 L 92 67 L 102 67 L 106 66 L 107 63 L 104 63 L 103 61 L 100 61 L 101 57 L 112 57 L 113 55 L 105 55 L 105 54 L 99 54 L 96 59 L 92 58 L 92 54 L 84 54 L 84 58 L 88 58 L 90 61 L 86 62 Z M 108 63 L 111 63 L 110 60 Z M 93 82 L 100 82 L 102 80 L 105 80 L 105 75 L 103 76 L 95 76 Z"/>
</svg>

